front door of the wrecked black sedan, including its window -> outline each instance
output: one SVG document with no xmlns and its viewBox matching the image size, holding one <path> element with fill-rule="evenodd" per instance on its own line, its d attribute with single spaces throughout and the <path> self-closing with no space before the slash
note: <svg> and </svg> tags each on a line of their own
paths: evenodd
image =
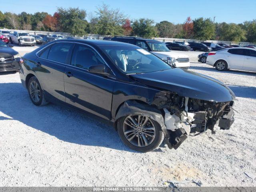
<svg viewBox="0 0 256 192">
<path fill-rule="evenodd" d="M 66 103 L 111 120 L 115 80 L 88 72 L 88 67 L 92 65 L 105 63 L 90 46 L 76 44 L 70 65 L 65 69 Z"/>
</svg>

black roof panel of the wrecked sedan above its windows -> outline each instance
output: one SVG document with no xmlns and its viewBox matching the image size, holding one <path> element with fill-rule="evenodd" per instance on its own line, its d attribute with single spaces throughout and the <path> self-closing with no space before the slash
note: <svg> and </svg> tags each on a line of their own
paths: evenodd
<svg viewBox="0 0 256 192">
<path fill-rule="evenodd" d="M 132 46 L 132 44 L 124 43 L 124 42 L 118 42 L 118 41 L 105 41 L 105 40 L 92 40 L 92 39 L 58 39 L 56 42 L 78 42 L 78 43 L 86 43 L 90 45 L 129 45 Z"/>
</svg>

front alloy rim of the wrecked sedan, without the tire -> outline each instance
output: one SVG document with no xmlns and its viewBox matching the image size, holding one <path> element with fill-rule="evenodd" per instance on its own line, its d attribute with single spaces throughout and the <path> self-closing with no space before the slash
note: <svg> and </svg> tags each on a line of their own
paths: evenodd
<svg viewBox="0 0 256 192">
<path fill-rule="evenodd" d="M 123 123 L 123 133 L 131 144 L 137 147 L 150 145 L 156 137 L 156 128 L 147 116 L 127 116 Z"/>
</svg>

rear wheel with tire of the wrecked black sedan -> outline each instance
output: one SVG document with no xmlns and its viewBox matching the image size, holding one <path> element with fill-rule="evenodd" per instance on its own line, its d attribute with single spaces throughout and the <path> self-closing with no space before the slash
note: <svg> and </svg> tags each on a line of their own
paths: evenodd
<svg viewBox="0 0 256 192">
<path fill-rule="evenodd" d="M 44 98 L 44 93 L 40 83 L 35 76 L 30 78 L 28 81 L 28 94 L 32 103 L 34 103 L 36 106 L 43 106 L 48 104 Z"/>
</svg>

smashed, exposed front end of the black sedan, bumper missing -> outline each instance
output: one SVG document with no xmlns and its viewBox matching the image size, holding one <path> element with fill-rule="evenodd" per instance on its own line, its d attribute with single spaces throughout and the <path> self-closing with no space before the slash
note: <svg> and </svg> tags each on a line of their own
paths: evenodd
<svg viewBox="0 0 256 192">
<path fill-rule="evenodd" d="M 214 125 L 229 129 L 234 122 L 233 101 L 214 102 L 181 97 L 172 92 L 159 92 L 152 103 L 164 111 L 166 140 L 177 149 L 188 136 L 196 136 Z"/>
</svg>

